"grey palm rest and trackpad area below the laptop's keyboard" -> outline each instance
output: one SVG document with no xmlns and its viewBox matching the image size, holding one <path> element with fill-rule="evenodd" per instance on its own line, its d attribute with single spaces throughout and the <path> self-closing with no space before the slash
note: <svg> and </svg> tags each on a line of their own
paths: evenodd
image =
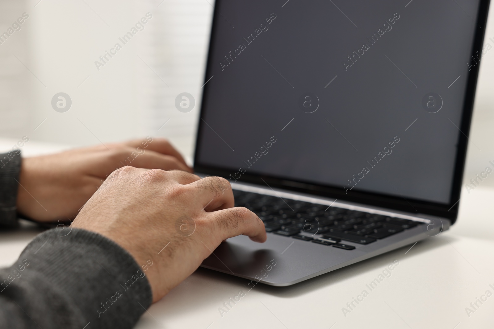
<svg viewBox="0 0 494 329">
<path fill-rule="evenodd" d="M 287 286 L 330 268 L 343 267 L 345 260 L 364 254 L 334 249 L 274 234 L 269 234 L 262 244 L 247 236 L 237 236 L 221 243 L 201 266 L 269 285 Z"/>
</svg>

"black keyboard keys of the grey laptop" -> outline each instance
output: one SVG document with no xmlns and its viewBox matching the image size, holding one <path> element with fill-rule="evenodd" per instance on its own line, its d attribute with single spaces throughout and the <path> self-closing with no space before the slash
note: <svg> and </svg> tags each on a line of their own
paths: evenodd
<svg viewBox="0 0 494 329">
<path fill-rule="evenodd" d="M 246 207 L 264 222 L 266 232 L 353 250 L 412 228 L 418 222 L 305 201 L 233 190 L 236 207 Z M 343 242 L 342 242 L 343 241 Z"/>
</svg>

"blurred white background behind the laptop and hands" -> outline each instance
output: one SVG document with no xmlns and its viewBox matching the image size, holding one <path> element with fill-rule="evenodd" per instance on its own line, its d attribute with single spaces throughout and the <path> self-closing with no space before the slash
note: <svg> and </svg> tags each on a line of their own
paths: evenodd
<svg viewBox="0 0 494 329">
<path fill-rule="evenodd" d="M 2 0 L 0 34 L 23 13 L 29 18 L 5 41 L 0 38 L 1 150 L 23 136 L 30 139 L 23 147 L 30 155 L 151 135 L 168 138 L 192 159 L 213 5 L 213 0 Z M 147 13 L 152 18 L 143 30 L 123 44 L 119 38 Z M 494 47 L 490 17 L 484 44 Z M 97 67 L 95 61 L 103 63 L 100 56 L 116 43 L 122 49 Z M 494 160 L 493 73 L 494 50 L 481 61 L 465 183 Z M 51 106 L 59 92 L 72 100 L 63 113 Z M 182 92 L 194 96 L 194 110 L 175 108 Z M 494 185 L 494 179 L 482 184 Z"/>
</svg>

